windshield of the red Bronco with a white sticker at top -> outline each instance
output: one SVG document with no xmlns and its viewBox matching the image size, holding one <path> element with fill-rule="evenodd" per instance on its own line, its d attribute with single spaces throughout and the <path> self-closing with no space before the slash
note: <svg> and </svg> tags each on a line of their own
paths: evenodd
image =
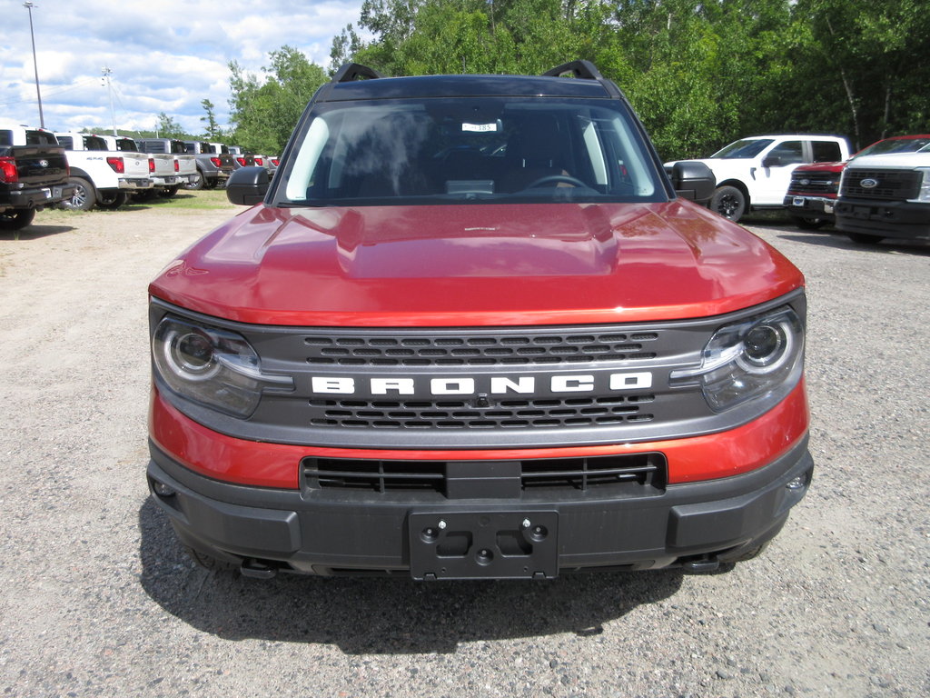
<svg viewBox="0 0 930 698">
<path fill-rule="evenodd" d="M 664 200 L 621 110 L 538 98 L 321 103 L 276 196 L 304 206 Z"/>
</svg>

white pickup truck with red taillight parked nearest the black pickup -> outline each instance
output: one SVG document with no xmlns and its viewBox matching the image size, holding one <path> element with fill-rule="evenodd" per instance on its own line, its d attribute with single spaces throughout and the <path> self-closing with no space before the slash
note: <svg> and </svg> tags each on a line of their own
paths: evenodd
<svg viewBox="0 0 930 698">
<path fill-rule="evenodd" d="M 68 155 L 68 181 L 75 186 L 75 194 L 62 201 L 61 208 L 118 208 L 129 193 L 152 188 L 148 155 L 112 151 L 103 137 L 88 133 L 56 133 L 55 137 Z"/>
</svg>

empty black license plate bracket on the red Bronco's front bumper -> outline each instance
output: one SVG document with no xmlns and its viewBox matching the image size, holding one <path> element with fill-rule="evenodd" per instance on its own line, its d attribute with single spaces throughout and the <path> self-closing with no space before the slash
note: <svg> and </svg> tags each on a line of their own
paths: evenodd
<svg viewBox="0 0 930 698">
<path fill-rule="evenodd" d="M 555 511 L 415 512 L 407 517 L 410 575 L 418 580 L 558 576 Z"/>
</svg>

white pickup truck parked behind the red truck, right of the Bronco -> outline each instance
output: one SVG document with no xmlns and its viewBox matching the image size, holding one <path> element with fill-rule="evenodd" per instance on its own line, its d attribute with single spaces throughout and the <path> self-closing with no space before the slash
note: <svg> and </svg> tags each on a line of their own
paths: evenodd
<svg viewBox="0 0 930 698">
<path fill-rule="evenodd" d="M 794 168 L 838 162 L 849 155 L 849 141 L 840 136 L 792 134 L 740 139 L 697 162 L 711 168 L 717 178 L 711 210 L 738 221 L 753 209 L 784 208 Z M 665 167 L 673 165 L 666 163 Z"/>
</svg>

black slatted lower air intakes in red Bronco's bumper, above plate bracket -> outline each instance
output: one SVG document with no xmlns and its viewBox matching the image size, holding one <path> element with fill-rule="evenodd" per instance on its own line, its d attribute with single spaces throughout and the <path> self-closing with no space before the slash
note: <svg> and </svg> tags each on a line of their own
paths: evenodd
<svg viewBox="0 0 930 698">
<path fill-rule="evenodd" d="M 446 496 L 446 461 L 378 461 L 305 458 L 306 490 L 430 491 Z M 457 462 L 457 466 L 467 465 Z M 474 462 L 476 471 L 482 462 Z M 520 461 L 520 489 L 578 490 L 619 487 L 639 494 L 665 489 L 667 463 L 661 453 L 634 453 L 592 458 L 527 459 Z"/>
</svg>

